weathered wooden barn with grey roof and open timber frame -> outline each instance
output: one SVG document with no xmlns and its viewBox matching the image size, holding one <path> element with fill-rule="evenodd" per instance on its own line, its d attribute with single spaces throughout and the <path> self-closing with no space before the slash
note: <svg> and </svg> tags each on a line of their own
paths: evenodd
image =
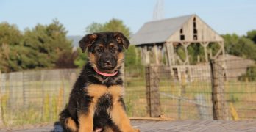
<svg viewBox="0 0 256 132">
<path fill-rule="evenodd" d="M 215 59 L 221 54 L 224 57 L 223 38 L 197 15 L 149 21 L 133 35 L 131 42 L 141 49 L 143 65 L 160 64 L 165 58 L 173 71 L 177 70 L 178 65 L 179 67 L 180 65 L 186 66 L 186 69 L 189 68 L 189 45 L 202 45 L 205 52 L 204 59 L 201 59 L 203 62 Z M 214 55 L 208 48 L 210 44 L 219 47 Z M 185 58 L 182 59 L 177 54 L 177 48 L 183 49 Z"/>
</svg>

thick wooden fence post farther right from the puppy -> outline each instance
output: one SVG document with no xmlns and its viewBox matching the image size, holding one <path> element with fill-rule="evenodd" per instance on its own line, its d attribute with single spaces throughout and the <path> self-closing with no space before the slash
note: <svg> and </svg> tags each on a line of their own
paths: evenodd
<svg viewBox="0 0 256 132">
<path fill-rule="evenodd" d="M 224 97 L 224 68 L 210 60 L 212 84 L 213 120 L 228 120 L 227 105 Z"/>
</svg>

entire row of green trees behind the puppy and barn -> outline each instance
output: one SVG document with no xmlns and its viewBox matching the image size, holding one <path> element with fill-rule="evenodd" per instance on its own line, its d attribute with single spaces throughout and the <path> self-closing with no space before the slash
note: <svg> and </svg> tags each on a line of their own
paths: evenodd
<svg viewBox="0 0 256 132">
<path fill-rule="evenodd" d="M 132 32 L 123 21 L 111 19 L 106 23 L 91 23 L 85 28 L 86 33 L 117 31 L 123 32 L 128 38 Z M 238 34 L 223 34 L 227 54 L 241 56 L 256 61 L 256 30 L 239 36 Z M 218 45 L 209 45 L 213 54 L 218 51 Z M 184 54 L 182 48 L 177 48 L 178 54 Z M 202 46 L 188 47 L 191 62 L 196 62 L 198 56 L 205 56 Z M 141 65 L 140 57 L 135 56 L 135 46 L 130 46 L 125 52 L 125 65 Z M 184 54 L 185 56 L 185 54 Z M 73 50 L 71 40 L 63 24 L 54 19 L 47 25 L 38 24 L 32 29 L 20 31 L 10 23 L 0 23 L 0 70 L 3 73 L 41 68 L 75 68 L 85 65 L 86 54 L 77 48 Z"/>
</svg>

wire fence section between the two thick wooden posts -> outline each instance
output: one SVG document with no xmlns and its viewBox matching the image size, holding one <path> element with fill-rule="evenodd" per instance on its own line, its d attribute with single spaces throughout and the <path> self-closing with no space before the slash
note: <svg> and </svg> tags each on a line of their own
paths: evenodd
<svg viewBox="0 0 256 132">
<path fill-rule="evenodd" d="M 157 114 L 164 114 L 165 117 L 173 120 L 212 119 L 209 65 L 176 66 L 172 67 L 172 71 L 168 66 L 148 68 L 150 71 L 149 81 L 156 78 L 159 80 L 156 89 L 149 93 L 159 96 L 159 98 L 149 98 L 148 101 L 160 103 L 157 106 L 152 104 L 153 108 L 160 108 L 153 117 Z"/>
</svg>

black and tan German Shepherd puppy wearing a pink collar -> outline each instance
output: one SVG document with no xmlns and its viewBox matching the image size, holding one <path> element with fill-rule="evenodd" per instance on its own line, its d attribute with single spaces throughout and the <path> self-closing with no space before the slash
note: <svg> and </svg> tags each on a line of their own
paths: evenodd
<svg viewBox="0 0 256 132">
<path fill-rule="evenodd" d="M 64 131 L 139 131 L 125 111 L 120 73 L 129 40 L 121 32 L 99 32 L 85 35 L 79 46 L 88 49 L 88 63 L 60 114 Z"/>
</svg>

